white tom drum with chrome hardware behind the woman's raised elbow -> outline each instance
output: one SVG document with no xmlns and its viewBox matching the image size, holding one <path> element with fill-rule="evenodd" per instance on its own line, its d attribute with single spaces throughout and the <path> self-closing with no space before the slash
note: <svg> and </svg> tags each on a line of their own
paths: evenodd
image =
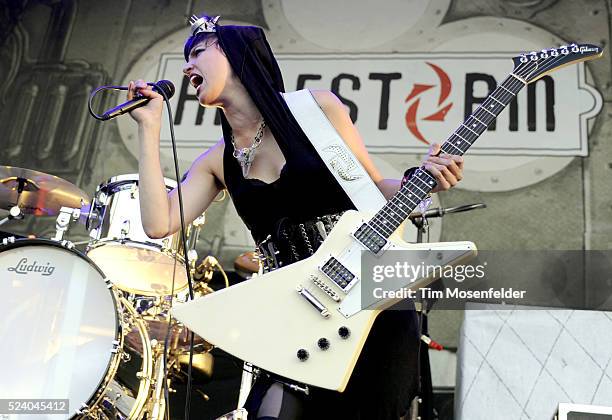
<svg viewBox="0 0 612 420">
<path fill-rule="evenodd" d="M 168 191 L 176 182 L 165 179 Z M 142 226 L 138 174 L 119 175 L 98 185 L 88 211 L 87 255 L 121 290 L 144 296 L 167 296 L 188 288 L 185 250 L 195 246 L 201 224 L 187 227 L 184 247 L 180 233 L 149 238 Z"/>
</svg>

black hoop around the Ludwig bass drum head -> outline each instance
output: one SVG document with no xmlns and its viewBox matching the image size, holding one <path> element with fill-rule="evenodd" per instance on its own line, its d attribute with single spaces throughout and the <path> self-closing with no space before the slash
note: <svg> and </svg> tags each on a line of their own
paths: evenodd
<svg viewBox="0 0 612 420">
<path fill-rule="evenodd" d="M 119 319 L 119 313 L 121 311 L 121 307 L 119 305 L 119 299 L 123 299 L 123 298 L 119 298 L 117 296 L 117 291 L 115 287 L 112 285 L 112 283 L 108 282 L 106 275 L 102 272 L 100 267 L 98 267 L 96 263 L 93 262 L 91 258 L 89 258 L 87 255 L 85 255 L 83 252 L 79 251 L 78 249 L 68 248 L 60 242 L 57 242 L 51 239 L 44 239 L 44 238 L 34 238 L 34 239 L 22 238 L 22 239 L 16 239 L 14 242 L 9 242 L 7 244 L 0 244 L 0 252 L 8 251 L 10 249 L 22 248 L 24 246 L 51 246 L 51 247 L 59 248 L 64 251 L 68 251 L 72 254 L 75 254 L 77 257 L 81 257 L 83 260 L 88 262 L 93 268 L 95 268 L 96 271 L 102 276 L 102 279 L 105 282 L 107 282 L 107 284 L 109 284 L 109 287 L 107 288 L 107 290 L 110 292 L 111 298 L 113 300 L 113 305 L 115 307 L 115 326 L 116 326 L 115 341 L 118 343 L 116 347 L 118 351 L 113 352 L 113 355 L 111 356 L 108 362 L 108 365 L 106 367 L 105 374 L 102 376 L 102 379 L 100 380 L 100 382 L 98 382 L 98 385 L 95 388 L 94 392 L 92 393 L 92 395 L 89 397 L 89 399 L 85 403 L 88 409 L 95 407 L 100 402 L 101 398 L 104 396 L 104 391 L 106 391 L 106 389 L 108 388 L 110 381 L 117 374 L 117 369 L 119 368 L 119 363 L 121 362 L 121 349 L 123 349 L 123 324 L 121 322 L 121 319 Z M 145 331 L 145 334 L 148 340 L 148 333 L 146 333 L 146 331 Z M 147 343 L 150 347 L 150 341 L 147 341 Z M 143 348 L 144 347 L 145 346 L 143 346 Z M 109 349 L 109 351 L 112 351 L 112 349 Z M 71 418 L 74 418 L 79 414 L 80 413 L 77 412 Z"/>
</svg>

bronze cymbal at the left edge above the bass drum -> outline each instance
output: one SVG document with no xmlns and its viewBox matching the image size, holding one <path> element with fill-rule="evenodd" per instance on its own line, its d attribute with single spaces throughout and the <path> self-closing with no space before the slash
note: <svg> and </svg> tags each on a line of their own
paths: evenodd
<svg viewBox="0 0 612 420">
<path fill-rule="evenodd" d="M 56 216 L 62 207 L 81 208 L 88 203 L 89 196 L 63 178 L 0 165 L 1 209 L 19 206 L 26 214 Z"/>
</svg>

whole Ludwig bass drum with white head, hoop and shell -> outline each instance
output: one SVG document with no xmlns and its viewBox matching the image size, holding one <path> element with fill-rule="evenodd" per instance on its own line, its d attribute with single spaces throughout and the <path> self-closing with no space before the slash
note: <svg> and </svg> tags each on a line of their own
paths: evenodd
<svg viewBox="0 0 612 420">
<path fill-rule="evenodd" d="M 142 418 L 153 372 L 146 326 L 100 269 L 55 241 L 5 239 L 0 273 L 0 395 L 68 402 L 55 405 L 61 414 L 19 418 Z M 124 351 L 129 329 L 142 354 Z"/>
</svg>

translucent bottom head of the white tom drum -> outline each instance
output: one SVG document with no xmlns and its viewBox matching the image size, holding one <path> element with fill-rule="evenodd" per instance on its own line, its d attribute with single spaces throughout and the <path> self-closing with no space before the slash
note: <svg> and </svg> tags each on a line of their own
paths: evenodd
<svg viewBox="0 0 612 420">
<path fill-rule="evenodd" d="M 94 246 L 87 256 L 118 288 L 145 296 L 172 294 L 187 287 L 187 273 L 182 260 L 155 246 L 133 241 L 104 242 Z"/>
</svg>

